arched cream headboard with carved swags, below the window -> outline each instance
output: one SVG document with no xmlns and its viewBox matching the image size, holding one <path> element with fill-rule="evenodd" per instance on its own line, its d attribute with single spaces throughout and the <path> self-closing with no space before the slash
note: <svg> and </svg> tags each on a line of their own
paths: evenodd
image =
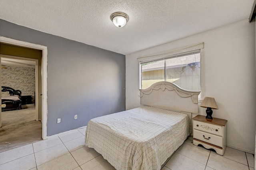
<svg viewBox="0 0 256 170">
<path fill-rule="evenodd" d="M 188 91 L 171 82 L 161 81 L 140 90 L 140 104 L 178 112 L 198 113 L 200 92 Z"/>
</svg>

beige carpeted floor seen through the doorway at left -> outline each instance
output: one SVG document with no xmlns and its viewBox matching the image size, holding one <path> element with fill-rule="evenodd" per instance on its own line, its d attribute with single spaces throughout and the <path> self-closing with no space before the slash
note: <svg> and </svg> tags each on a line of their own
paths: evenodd
<svg viewBox="0 0 256 170">
<path fill-rule="evenodd" d="M 35 120 L 34 104 L 22 105 L 22 108 L 2 112 L 0 152 L 42 140 L 42 123 Z"/>
</svg>

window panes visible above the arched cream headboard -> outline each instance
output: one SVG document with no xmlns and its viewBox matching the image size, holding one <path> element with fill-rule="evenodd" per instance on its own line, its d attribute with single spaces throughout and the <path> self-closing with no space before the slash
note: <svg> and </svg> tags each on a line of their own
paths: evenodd
<svg viewBox="0 0 256 170">
<path fill-rule="evenodd" d="M 200 49 L 140 62 L 140 88 L 168 81 L 190 91 L 200 91 Z"/>
</svg>

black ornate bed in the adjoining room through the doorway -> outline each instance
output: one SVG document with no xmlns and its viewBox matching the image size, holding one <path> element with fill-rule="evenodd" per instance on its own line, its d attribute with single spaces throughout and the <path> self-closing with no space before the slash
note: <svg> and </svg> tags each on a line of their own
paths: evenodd
<svg viewBox="0 0 256 170">
<path fill-rule="evenodd" d="M 2 111 L 22 109 L 20 100 L 21 94 L 22 92 L 20 90 L 2 86 L 2 104 L 6 104 L 6 107 L 2 107 Z"/>
</svg>

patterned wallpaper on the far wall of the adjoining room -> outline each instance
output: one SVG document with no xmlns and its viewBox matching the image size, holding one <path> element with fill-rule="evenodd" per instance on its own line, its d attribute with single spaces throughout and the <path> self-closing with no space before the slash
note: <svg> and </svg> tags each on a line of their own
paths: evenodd
<svg viewBox="0 0 256 170">
<path fill-rule="evenodd" d="M 6 67 L 8 68 L 1 68 L 2 86 L 20 90 L 22 96 L 31 95 L 34 103 L 34 92 L 36 90 L 35 68 Z"/>
</svg>

